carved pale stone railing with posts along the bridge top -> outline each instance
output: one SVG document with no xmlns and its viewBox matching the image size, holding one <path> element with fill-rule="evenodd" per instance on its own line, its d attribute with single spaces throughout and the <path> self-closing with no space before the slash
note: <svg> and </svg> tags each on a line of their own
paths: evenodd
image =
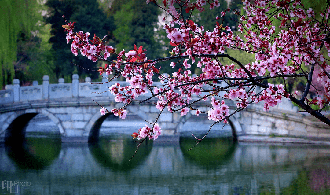
<svg viewBox="0 0 330 195">
<path fill-rule="evenodd" d="M 167 75 L 164 73 L 164 75 Z M 45 75 L 43 77 L 42 85 L 39 85 L 38 81 L 33 81 L 32 86 L 19 86 L 19 80 L 14 79 L 12 85 L 6 85 L 5 90 L 0 90 L 0 104 L 10 104 L 13 102 L 22 102 L 30 100 L 47 100 L 47 99 L 58 99 L 58 98 L 75 98 L 75 97 L 97 97 L 97 96 L 113 96 L 108 91 L 110 86 L 115 82 L 119 82 L 121 86 L 127 86 L 126 81 L 114 81 L 107 82 L 108 79 L 104 74 L 101 83 L 91 83 L 90 77 L 85 78 L 85 82 L 79 82 L 79 76 L 77 74 L 72 75 L 72 83 L 64 83 L 64 79 L 58 79 L 57 84 L 49 84 L 49 76 Z M 103 84 L 102 84 L 103 83 Z M 160 82 L 154 82 L 153 85 L 160 86 Z M 220 86 L 225 86 L 225 83 L 220 83 Z M 205 86 L 204 89 L 211 89 L 210 86 Z M 261 90 L 261 89 L 257 89 Z M 175 90 L 180 93 L 178 89 Z M 102 93 L 105 92 L 105 93 Z M 224 91 L 220 92 L 220 95 L 224 95 Z M 209 92 L 203 92 L 201 96 L 208 95 Z M 144 99 L 150 97 L 151 94 L 147 93 L 145 95 L 140 95 L 138 99 Z M 192 94 L 193 100 L 199 99 L 197 95 Z M 156 99 L 156 98 L 155 98 Z M 154 99 L 154 100 L 155 100 Z M 276 106 L 276 109 L 287 110 L 290 112 L 297 112 L 298 108 L 294 107 L 293 104 L 283 98 L 283 103 Z M 235 102 L 227 101 L 226 104 L 235 108 Z M 249 108 L 255 108 L 258 110 L 263 109 L 263 104 L 253 104 Z"/>
</svg>

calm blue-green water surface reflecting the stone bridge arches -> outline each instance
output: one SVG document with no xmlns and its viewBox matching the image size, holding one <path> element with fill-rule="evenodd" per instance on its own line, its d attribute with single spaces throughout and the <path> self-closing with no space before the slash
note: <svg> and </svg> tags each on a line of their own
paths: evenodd
<svg viewBox="0 0 330 195">
<path fill-rule="evenodd" d="M 193 145 L 149 141 L 129 161 L 136 143 L 126 135 L 96 145 L 27 138 L 19 148 L 0 145 L 0 178 L 31 182 L 20 194 L 329 193 L 329 147 L 212 138 L 187 151 Z"/>
</svg>

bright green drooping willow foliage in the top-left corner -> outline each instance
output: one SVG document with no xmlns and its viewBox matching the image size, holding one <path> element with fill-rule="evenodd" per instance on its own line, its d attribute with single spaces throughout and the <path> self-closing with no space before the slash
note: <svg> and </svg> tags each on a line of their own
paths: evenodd
<svg viewBox="0 0 330 195">
<path fill-rule="evenodd" d="M 3 0 L 0 6 L 0 87 L 10 83 L 15 76 L 13 62 L 16 61 L 17 34 L 23 28 L 30 32 L 32 10 L 36 0 Z"/>
</svg>

